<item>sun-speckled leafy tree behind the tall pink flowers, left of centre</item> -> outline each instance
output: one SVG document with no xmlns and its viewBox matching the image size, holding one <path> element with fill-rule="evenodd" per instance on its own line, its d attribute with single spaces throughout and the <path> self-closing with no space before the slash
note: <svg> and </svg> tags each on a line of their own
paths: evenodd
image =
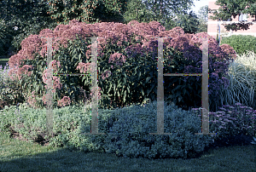
<svg viewBox="0 0 256 172">
<path fill-rule="evenodd" d="M 45 0 L 41 0 L 45 1 Z M 86 23 L 123 22 L 128 0 L 47 0 L 48 14 L 58 24 L 67 25 L 69 20 Z"/>
</svg>

